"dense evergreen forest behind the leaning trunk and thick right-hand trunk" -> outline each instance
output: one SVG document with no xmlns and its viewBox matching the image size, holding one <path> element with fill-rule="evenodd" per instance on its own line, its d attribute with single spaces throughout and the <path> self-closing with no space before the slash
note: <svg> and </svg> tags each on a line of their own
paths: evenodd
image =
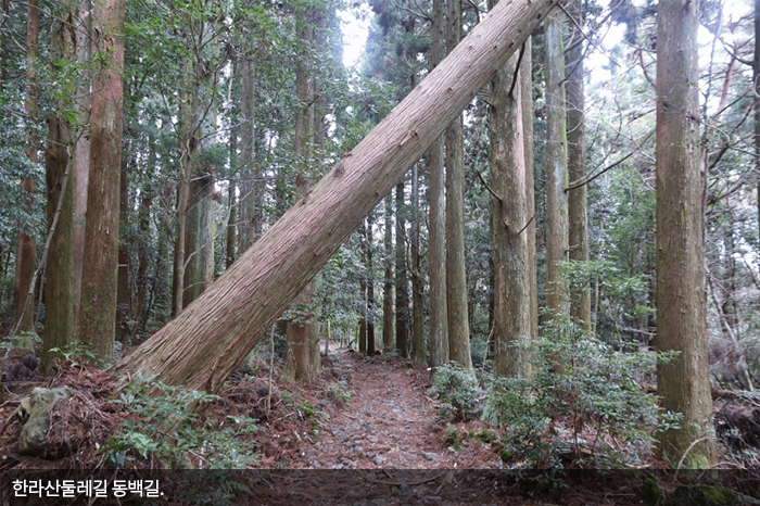
<svg viewBox="0 0 760 506">
<path fill-rule="evenodd" d="M 312 185 L 339 173 L 492 8 L 3 1 L 0 317 L 9 351 L 39 336 L 45 371 L 51 350 L 77 342 L 106 364 L 122 359 Z M 112 17 L 119 9 L 121 21 Z M 649 395 L 662 324 L 657 9 L 628 0 L 555 9 L 280 317 L 273 342 L 283 374 L 312 380 L 320 339 L 341 340 L 430 365 L 473 399 L 492 392 L 478 414 L 448 399 L 454 417 L 535 435 L 546 429 L 540 409 L 567 405 L 566 416 L 605 420 L 612 439 L 638 421 L 667 431 Z M 698 81 L 686 86 L 698 92 L 692 151 L 701 167 L 709 377 L 713 391 L 751 395 L 760 375 L 756 21 L 738 1 L 702 1 L 697 15 Z M 346 67 L 343 30 L 354 17 L 369 28 Z M 522 144 L 495 149 L 506 146 L 499 136 L 515 142 L 508 131 L 518 124 Z M 505 151 L 522 155 L 522 173 L 499 172 Z M 522 186 L 510 186 L 517 179 Z M 512 201 L 520 207 L 507 210 Z M 518 299 L 523 306 L 502 314 Z M 477 385 L 468 379 L 476 372 Z M 529 393 L 549 383 L 568 395 Z M 613 399 L 620 404 L 605 404 Z"/>
</svg>

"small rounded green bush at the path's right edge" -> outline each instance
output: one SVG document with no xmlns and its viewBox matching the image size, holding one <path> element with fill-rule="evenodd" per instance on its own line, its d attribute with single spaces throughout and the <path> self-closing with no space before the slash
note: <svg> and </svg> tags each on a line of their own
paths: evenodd
<svg viewBox="0 0 760 506">
<path fill-rule="evenodd" d="M 441 418 L 468 421 L 482 414 L 483 390 L 474 375 L 456 364 L 439 367 L 433 374 L 433 385 L 426 392 L 439 401 Z"/>
</svg>

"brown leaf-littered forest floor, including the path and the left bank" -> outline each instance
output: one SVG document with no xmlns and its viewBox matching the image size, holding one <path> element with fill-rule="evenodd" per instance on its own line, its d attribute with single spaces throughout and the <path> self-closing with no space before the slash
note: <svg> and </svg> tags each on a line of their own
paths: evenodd
<svg viewBox="0 0 760 506">
<path fill-rule="evenodd" d="M 23 362 L 24 353 L 14 352 L 10 363 Z M 266 353 L 254 356 L 232 375 L 219 399 L 193 423 L 199 431 L 208 428 L 221 431 L 236 417 L 258 420 L 255 430 L 241 431 L 240 447 L 251 447 L 256 454 L 255 460 L 245 466 L 246 470 L 235 478 L 210 475 L 204 479 L 212 484 L 206 484 L 203 493 L 208 493 L 210 486 L 217 486 L 213 483 L 229 483 L 233 479 L 245 483 L 248 492 L 236 493 L 231 502 L 228 497 L 227 503 L 214 499 L 212 504 L 642 503 L 643 472 L 603 476 L 597 471 L 571 471 L 557 478 L 552 472 L 505 471 L 498 452 L 502 435 L 498 428 L 479 420 L 442 419 L 434 401 L 426 394 L 431 387 L 430 371 L 411 360 L 380 355 L 365 357 L 333 349 L 322 358 L 322 370 L 311 383 L 278 380 L 276 370 L 270 385 L 271 372 Z M 103 453 L 111 438 L 119 433 L 125 420 L 145 428 L 154 421 L 150 414 L 128 412 L 115 401 L 117 384 L 117 379 L 107 371 L 69 360 L 61 363 L 47 379 L 33 371 L 23 382 L 9 384 L 15 387 L 16 394 L 7 396 L 0 404 L 0 421 L 4 421 L 0 428 L 0 477 L 4 472 L 39 469 L 68 470 L 69 476 L 76 470 L 113 475 Z M 14 413 L 24 393 L 35 385 L 68 385 L 76 392 L 68 407 L 52 415 L 51 433 L 65 441 L 67 447 L 67 452 L 59 452 L 54 458 L 22 456 L 17 451 L 23 419 Z M 72 421 L 66 422 L 66 417 Z M 132 458 L 125 468 L 138 472 L 174 472 L 155 471 L 156 467 L 165 467 L 161 460 L 142 458 L 131 452 Z M 208 461 L 198 452 L 188 452 L 185 467 L 208 467 Z M 661 464 L 654 460 L 647 472 L 653 468 L 662 471 Z M 162 475 L 162 480 L 176 479 L 179 483 L 188 478 L 181 476 L 182 471 L 177 472 L 179 477 Z M 660 479 L 664 494 L 672 493 L 677 484 L 671 477 L 666 472 Z M 198 503 L 198 498 L 190 501 L 185 493 L 162 504 L 193 502 Z"/>
</svg>

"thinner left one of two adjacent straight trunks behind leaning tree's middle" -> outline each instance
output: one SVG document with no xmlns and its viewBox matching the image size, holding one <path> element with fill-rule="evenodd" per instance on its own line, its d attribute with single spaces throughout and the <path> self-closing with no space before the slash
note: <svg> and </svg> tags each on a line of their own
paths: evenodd
<svg viewBox="0 0 760 506">
<path fill-rule="evenodd" d="M 444 0 L 433 0 L 432 46 L 433 68 L 444 58 Z M 430 147 L 430 362 L 432 367 L 448 364 L 448 307 L 446 306 L 446 185 L 444 177 L 444 139 Z"/>
</svg>

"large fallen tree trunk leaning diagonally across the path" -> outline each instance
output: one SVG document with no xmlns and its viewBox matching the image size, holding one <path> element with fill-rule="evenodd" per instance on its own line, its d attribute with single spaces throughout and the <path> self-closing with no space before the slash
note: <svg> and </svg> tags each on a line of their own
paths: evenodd
<svg viewBox="0 0 760 506">
<path fill-rule="evenodd" d="M 116 370 L 216 392 L 556 3 L 502 0 L 351 153 Z"/>
</svg>

